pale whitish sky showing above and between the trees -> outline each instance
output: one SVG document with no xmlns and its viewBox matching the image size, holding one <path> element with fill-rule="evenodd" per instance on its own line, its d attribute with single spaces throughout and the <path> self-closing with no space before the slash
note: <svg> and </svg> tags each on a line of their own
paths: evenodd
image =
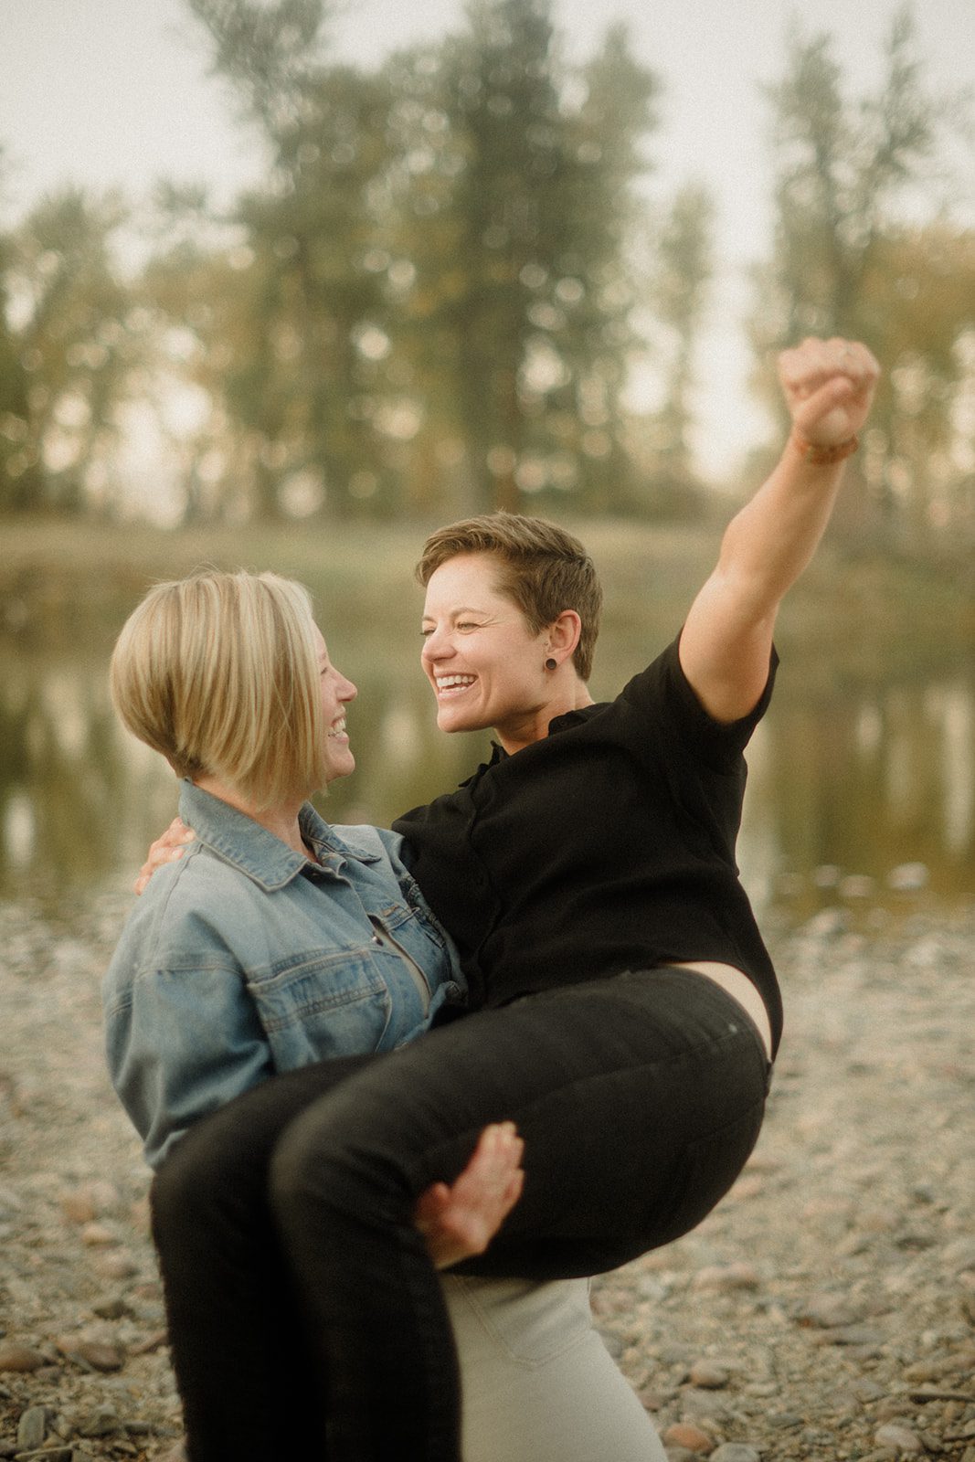
<svg viewBox="0 0 975 1462">
<path fill-rule="evenodd" d="M 762 434 L 748 402 L 741 319 L 746 270 L 769 247 L 770 164 L 763 80 L 782 75 L 785 38 L 827 31 L 860 92 L 880 73 L 895 0 L 555 0 L 569 53 L 592 54 L 614 20 L 664 83 L 649 139 L 650 196 L 703 181 L 718 205 L 718 279 L 699 361 L 697 458 L 724 472 Z M 370 66 L 392 50 L 458 28 L 462 0 L 346 0 L 332 26 L 336 54 Z M 919 51 L 940 92 L 975 83 L 974 0 L 917 0 Z M 222 200 L 260 175 L 253 135 L 208 76 L 202 28 L 180 0 L 0 0 L 0 143 L 9 161 L 1 219 L 10 224 L 63 184 L 123 187 L 133 200 L 155 178 L 208 181 Z M 975 222 L 975 161 L 962 155 L 952 200 Z"/>
</svg>

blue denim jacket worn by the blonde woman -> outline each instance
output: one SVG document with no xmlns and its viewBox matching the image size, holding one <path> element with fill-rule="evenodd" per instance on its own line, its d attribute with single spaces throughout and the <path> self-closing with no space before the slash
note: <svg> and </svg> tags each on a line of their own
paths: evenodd
<svg viewBox="0 0 975 1462">
<path fill-rule="evenodd" d="M 180 816 L 197 841 L 153 874 L 102 991 L 113 1085 L 152 1167 L 275 1072 L 389 1051 L 463 999 L 396 833 L 306 804 L 316 864 L 191 782 Z"/>
</svg>

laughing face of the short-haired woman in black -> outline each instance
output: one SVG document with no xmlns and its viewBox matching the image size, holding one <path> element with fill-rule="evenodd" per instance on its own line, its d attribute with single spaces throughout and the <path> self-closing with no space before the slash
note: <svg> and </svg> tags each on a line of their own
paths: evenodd
<svg viewBox="0 0 975 1462">
<path fill-rule="evenodd" d="M 507 750 L 548 731 L 553 678 L 548 632 L 535 635 L 497 589 L 491 554 L 449 558 L 427 583 L 422 667 L 441 731 L 496 727 Z"/>
</svg>

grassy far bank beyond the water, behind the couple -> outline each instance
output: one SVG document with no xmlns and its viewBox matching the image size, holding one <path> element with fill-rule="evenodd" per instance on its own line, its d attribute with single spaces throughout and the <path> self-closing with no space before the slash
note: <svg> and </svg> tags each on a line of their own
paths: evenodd
<svg viewBox="0 0 975 1462">
<path fill-rule="evenodd" d="M 164 531 L 58 519 L 0 525 L 0 635 L 26 645 L 114 636 L 146 586 L 208 563 L 275 569 L 308 583 L 322 607 L 379 623 L 418 613 L 411 570 L 433 525 L 339 525 Z M 570 525 L 607 585 L 607 630 L 680 621 L 718 551 L 721 525 Z M 855 553 L 826 541 L 786 602 L 779 639 L 816 661 L 842 643 L 874 655 L 953 652 L 975 637 L 968 576 L 922 561 Z"/>
</svg>

